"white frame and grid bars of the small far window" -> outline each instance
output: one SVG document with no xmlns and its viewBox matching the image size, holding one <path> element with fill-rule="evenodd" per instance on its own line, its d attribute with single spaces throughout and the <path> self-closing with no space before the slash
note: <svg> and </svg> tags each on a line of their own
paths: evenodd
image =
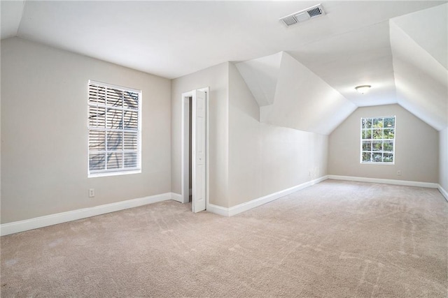
<svg viewBox="0 0 448 298">
<path fill-rule="evenodd" d="M 385 128 L 385 127 L 382 127 L 382 128 L 363 128 L 363 120 L 365 120 L 365 119 L 371 119 L 372 120 L 372 126 L 373 126 L 374 119 L 381 119 L 383 121 L 383 123 L 384 123 L 384 119 L 387 119 L 387 118 L 393 118 L 393 123 L 394 123 L 393 128 Z M 363 139 L 363 131 L 365 131 L 366 129 L 369 129 L 369 130 L 372 130 L 372 131 L 374 129 L 381 129 L 381 131 L 382 131 L 382 138 L 381 139 L 374 139 L 372 137 L 371 139 Z M 386 129 L 393 129 L 393 138 L 392 139 L 385 139 L 384 138 L 384 130 L 386 130 Z M 397 130 L 397 117 L 396 117 L 396 115 L 384 116 L 384 117 L 361 117 L 360 118 L 360 155 L 359 155 L 360 164 L 362 164 L 362 165 L 395 165 L 395 144 L 396 144 L 395 138 L 396 138 L 396 130 Z M 363 153 L 364 152 L 374 152 L 373 149 L 370 149 L 370 151 L 363 150 L 363 141 L 365 141 L 365 140 L 372 140 L 372 143 L 373 143 L 374 140 L 376 140 L 377 142 L 381 142 L 381 151 L 379 151 L 379 152 L 381 152 L 381 156 L 384 156 L 383 155 L 384 153 L 389 153 L 389 154 L 391 153 L 392 154 L 392 162 L 372 161 L 372 158 L 371 158 L 371 161 L 363 161 Z M 392 151 L 386 151 L 386 152 L 384 151 L 384 142 L 385 141 L 386 142 L 392 142 L 392 145 L 393 145 L 393 150 Z M 381 158 L 381 159 L 383 159 L 383 158 Z"/>
</svg>

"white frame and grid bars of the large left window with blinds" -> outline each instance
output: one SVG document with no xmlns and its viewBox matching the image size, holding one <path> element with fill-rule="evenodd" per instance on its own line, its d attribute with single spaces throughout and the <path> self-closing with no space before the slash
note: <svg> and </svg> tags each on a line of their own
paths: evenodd
<svg viewBox="0 0 448 298">
<path fill-rule="evenodd" d="M 138 95 L 138 108 L 137 110 L 132 110 L 130 108 L 126 108 L 124 103 L 121 104 L 120 108 L 116 108 L 114 107 L 112 110 L 122 110 L 124 111 L 132 111 L 135 112 L 137 111 L 137 130 L 132 130 L 130 128 L 125 128 L 125 126 L 122 124 L 121 128 L 108 128 L 107 127 L 107 113 L 108 113 L 108 107 L 110 108 L 110 105 L 107 105 L 107 101 L 105 99 L 104 105 L 99 105 L 98 103 L 95 105 L 94 103 L 90 102 L 90 86 L 91 85 L 97 85 L 97 87 L 104 87 L 106 89 L 117 89 L 119 91 L 128 91 L 134 94 Z M 142 110 L 142 103 L 143 103 L 143 94 L 141 90 L 138 89 L 133 89 L 133 88 L 129 88 L 129 87 L 123 87 L 123 86 L 118 86 L 115 84 L 109 84 L 109 83 L 104 83 L 104 82 L 98 82 L 98 81 L 94 81 L 94 80 L 89 80 L 87 82 L 87 177 L 88 178 L 92 178 L 92 177 L 107 177 L 107 176 L 117 176 L 117 175 L 124 175 L 124 174 L 139 174 L 141 173 L 141 110 Z M 98 127 L 93 127 L 90 126 L 90 107 L 104 107 L 105 110 L 105 116 L 104 116 L 104 128 L 98 128 Z M 124 117 L 124 116 L 123 116 Z M 90 149 L 90 131 L 104 131 L 104 150 L 92 150 Z M 137 150 L 126 150 L 125 149 L 125 144 L 123 144 L 123 139 L 121 141 L 122 144 L 122 148 L 120 150 L 111 150 L 108 149 L 107 146 L 107 132 L 121 132 L 123 133 L 123 137 L 124 137 L 124 133 L 137 133 Z M 106 154 L 106 158 L 108 155 L 108 152 L 116 152 L 116 153 L 121 153 L 122 154 L 122 166 L 118 167 L 118 168 L 113 168 L 113 169 L 107 169 L 107 161 L 104 161 L 105 163 L 105 169 L 104 170 L 90 170 L 90 156 L 92 153 L 104 153 Z M 137 153 L 137 165 L 135 167 L 125 167 L 125 152 L 127 153 L 132 153 L 132 152 L 136 152 Z"/>
</svg>

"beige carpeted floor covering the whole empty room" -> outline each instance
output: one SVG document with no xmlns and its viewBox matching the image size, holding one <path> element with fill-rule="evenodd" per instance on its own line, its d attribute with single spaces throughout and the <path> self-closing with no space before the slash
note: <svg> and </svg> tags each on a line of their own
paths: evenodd
<svg viewBox="0 0 448 298">
<path fill-rule="evenodd" d="M 1 297 L 447 297 L 436 189 L 327 180 L 225 218 L 167 201 L 1 237 Z"/>
</svg>

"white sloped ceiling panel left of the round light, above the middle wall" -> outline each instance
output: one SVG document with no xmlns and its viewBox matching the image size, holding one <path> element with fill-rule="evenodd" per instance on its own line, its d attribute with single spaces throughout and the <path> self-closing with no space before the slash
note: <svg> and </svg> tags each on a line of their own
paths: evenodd
<svg viewBox="0 0 448 298">
<path fill-rule="evenodd" d="M 260 121 L 328 135 L 356 105 L 290 54 L 279 54 L 281 64 L 274 100 L 260 107 Z M 246 64 L 237 67 L 241 65 Z"/>
</svg>

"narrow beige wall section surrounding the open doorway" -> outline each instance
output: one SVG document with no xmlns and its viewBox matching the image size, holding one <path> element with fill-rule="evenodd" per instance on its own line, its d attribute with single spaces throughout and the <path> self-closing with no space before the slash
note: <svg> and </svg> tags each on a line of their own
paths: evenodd
<svg viewBox="0 0 448 298">
<path fill-rule="evenodd" d="M 209 202 L 228 207 L 228 63 L 172 80 L 172 192 L 181 193 L 182 94 L 210 87 Z"/>
</svg>

